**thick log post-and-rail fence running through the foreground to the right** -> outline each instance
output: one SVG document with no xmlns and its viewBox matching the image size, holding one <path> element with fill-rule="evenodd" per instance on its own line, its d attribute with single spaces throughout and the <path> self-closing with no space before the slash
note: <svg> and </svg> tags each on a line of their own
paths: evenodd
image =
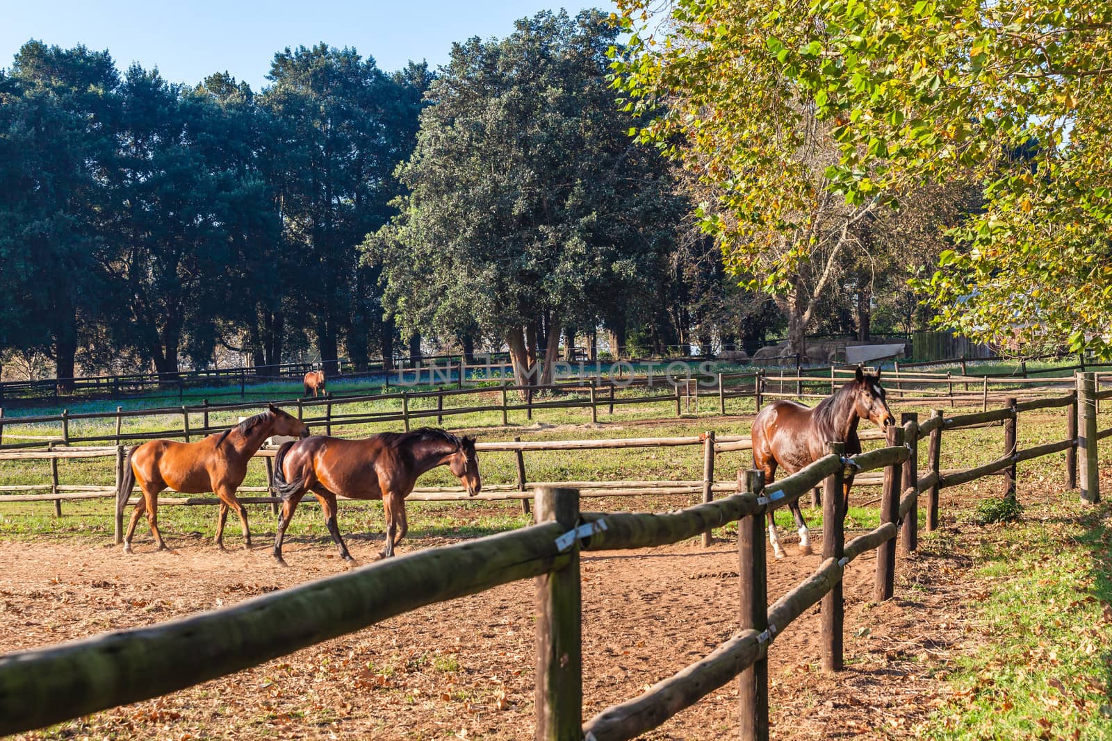
<svg viewBox="0 0 1112 741">
<path fill-rule="evenodd" d="M 822 664 L 843 665 L 845 567 L 876 550 L 874 599 L 892 597 L 896 540 L 917 547 L 917 507 L 926 494 L 926 529 L 937 524 L 939 490 L 1003 472 L 1014 495 L 1015 465 L 1080 448 L 1082 498 L 1099 500 L 1098 393 L 1092 374 L 1079 374 L 1076 393 L 1013 401 L 1002 409 L 946 418 L 936 410 L 920 422 L 904 413 L 887 445 L 846 458 L 837 443 L 802 471 L 765 485 L 759 472 L 738 471 L 737 493 L 678 512 L 658 514 L 579 511 L 579 492 L 536 491 L 537 524 L 397 559 L 257 597 L 185 620 L 105 633 L 82 641 L 0 657 L 0 733 L 41 728 L 115 705 L 158 697 L 337 638 L 419 607 L 474 594 L 519 579 L 536 579 L 536 738 L 617 741 L 658 727 L 701 698 L 738 678 L 741 737 L 768 738 L 767 652 L 775 638 L 814 604 L 822 608 Z M 1079 403 L 1080 400 L 1080 403 Z M 1016 450 L 1019 414 L 1065 407 L 1078 438 Z M 947 430 L 1002 423 L 1004 454 L 991 463 L 944 473 L 939 468 Z M 926 473 L 919 448 L 927 440 Z M 527 443 L 520 443 L 527 444 Z M 847 470 L 884 471 L 881 523 L 844 542 L 840 511 Z M 1068 464 L 1068 477 L 1075 468 Z M 1069 483 L 1073 483 L 1071 480 Z M 767 602 L 764 512 L 822 484 L 825 490 L 823 561 L 803 582 Z M 583 722 L 579 552 L 658 547 L 736 521 L 741 577 L 739 630 L 701 661 L 641 695 Z M 286 620 L 289 614 L 298 620 Z"/>
</svg>

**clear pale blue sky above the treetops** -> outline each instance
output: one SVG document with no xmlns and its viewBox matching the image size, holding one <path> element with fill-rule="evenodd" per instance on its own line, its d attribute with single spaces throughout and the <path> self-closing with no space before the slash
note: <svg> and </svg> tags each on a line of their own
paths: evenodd
<svg viewBox="0 0 1112 741">
<path fill-rule="evenodd" d="M 256 90 L 265 83 L 270 60 L 286 47 L 325 41 L 355 47 L 380 69 L 394 71 L 413 59 L 434 68 L 448 60 L 453 41 L 473 36 L 504 37 L 514 20 L 564 7 L 569 13 L 597 7 L 610 12 L 613 0 L 560 6 L 544 0 L 60 0 L 4 3 L 0 23 L 0 67 L 28 39 L 108 49 L 117 67 L 131 62 L 158 67 L 173 82 L 200 82 L 227 70 Z"/>
</svg>

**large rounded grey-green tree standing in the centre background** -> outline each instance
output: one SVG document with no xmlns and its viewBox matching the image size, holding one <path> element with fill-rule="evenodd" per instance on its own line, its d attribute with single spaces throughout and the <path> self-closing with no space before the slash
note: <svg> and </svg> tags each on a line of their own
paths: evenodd
<svg viewBox="0 0 1112 741">
<path fill-rule="evenodd" d="M 597 11 L 539 13 L 453 47 L 429 88 L 409 193 L 365 249 L 406 331 L 497 336 L 518 383 L 548 382 L 565 327 L 641 311 L 679 214 L 667 168 L 614 110 Z M 535 351 L 546 348 L 543 372 Z"/>
</svg>

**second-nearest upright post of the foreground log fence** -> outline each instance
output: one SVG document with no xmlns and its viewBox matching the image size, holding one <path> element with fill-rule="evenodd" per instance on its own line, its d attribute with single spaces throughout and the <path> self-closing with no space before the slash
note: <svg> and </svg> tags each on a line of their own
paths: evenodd
<svg viewBox="0 0 1112 741">
<path fill-rule="evenodd" d="M 743 484 L 744 477 L 744 487 Z M 764 472 L 737 472 L 738 489 L 746 489 L 757 497 L 764 491 Z M 741 568 L 739 602 L 742 630 L 759 633 L 768 630 L 768 575 L 765 569 L 767 554 L 764 542 L 763 513 L 753 513 L 737 523 L 737 557 Z M 771 638 L 771 637 L 770 637 Z M 767 640 L 765 641 L 767 644 Z M 753 662 L 737 678 L 742 741 L 768 739 L 768 658 Z"/>
</svg>

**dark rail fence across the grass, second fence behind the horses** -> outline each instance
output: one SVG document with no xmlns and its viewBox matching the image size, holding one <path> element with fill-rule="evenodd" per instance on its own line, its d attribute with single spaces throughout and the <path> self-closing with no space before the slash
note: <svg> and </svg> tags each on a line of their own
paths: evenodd
<svg viewBox="0 0 1112 741">
<path fill-rule="evenodd" d="M 676 417 L 682 417 L 693 410 L 697 412 L 701 400 L 707 398 L 717 398 L 718 412 L 722 414 L 727 413 L 727 401 L 734 399 L 752 399 L 757 409 L 765 401 L 775 398 L 821 399 L 844 383 L 852 373 L 852 369 L 832 366 L 816 371 L 815 374 L 803 374 L 802 369 L 796 369 L 795 374 L 785 374 L 782 371 L 778 375 L 757 370 L 713 375 L 696 374 L 691 378 L 685 375 L 681 382 L 675 382 L 676 379 L 669 379 L 664 374 L 633 378 L 594 377 L 549 385 L 502 383 L 429 391 L 403 390 L 393 393 L 342 395 L 329 393 L 317 399 L 285 399 L 275 403 L 291 410 L 296 409 L 298 418 L 318 429 L 324 428 L 326 434 L 331 434 L 334 429 L 384 422 L 401 422 L 403 428 L 408 430 L 414 422 L 435 419 L 439 425 L 445 419 L 476 413 L 500 414 L 502 423 L 506 425 L 512 414 L 519 415 L 524 412 L 526 419 L 532 420 L 535 412 L 549 409 L 579 409 L 592 422 L 597 422 L 600 408 L 613 414 L 615 408 L 628 404 L 664 404 L 669 410 L 674 407 Z M 1011 397 L 1034 399 L 1061 393 L 1063 389 L 1071 388 L 1074 380 L 1073 377 L 1020 379 L 901 371 L 885 374 L 884 383 L 890 397 L 902 404 L 933 405 L 944 402 L 954 407 L 980 403 L 986 410 L 991 402 L 1000 402 Z M 626 390 L 633 393 L 619 395 Z M 536 394 L 543 391 L 557 394 L 558 398 L 537 400 Z M 513 393 L 517 393 L 523 400 L 513 400 Z M 446 405 L 456 398 L 461 400 L 460 405 Z M 434 401 L 435 408 L 431 407 Z M 395 408 L 383 411 L 345 411 L 345 408 L 351 404 L 368 402 L 388 403 Z M 196 437 L 225 429 L 209 424 L 209 415 L 212 413 L 254 412 L 264 407 L 264 402 L 210 404 L 205 400 L 201 404 L 192 405 L 130 410 L 117 407 L 115 412 L 70 413 L 68 410 L 62 410 L 60 414 L 36 417 L 4 417 L 3 408 L 0 407 L 0 450 L 42 448 L 50 444 L 106 442 L 120 444 L 123 441 L 161 438 L 182 439 L 188 442 Z M 129 432 L 123 429 L 125 420 L 152 417 L 176 417 L 181 423 L 180 427 L 150 432 Z M 113 430 L 111 433 L 100 434 L 76 433 L 71 430 L 71 424 L 81 421 L 99 421 L 106 425 L 111 422 Z M 13 427 L 32 427 L 36 434 L 27 434 L 26 431 L 12 433 L 10 429 Z M 39 429 L 40 427 L 44 429 Z"/>
</svg>

